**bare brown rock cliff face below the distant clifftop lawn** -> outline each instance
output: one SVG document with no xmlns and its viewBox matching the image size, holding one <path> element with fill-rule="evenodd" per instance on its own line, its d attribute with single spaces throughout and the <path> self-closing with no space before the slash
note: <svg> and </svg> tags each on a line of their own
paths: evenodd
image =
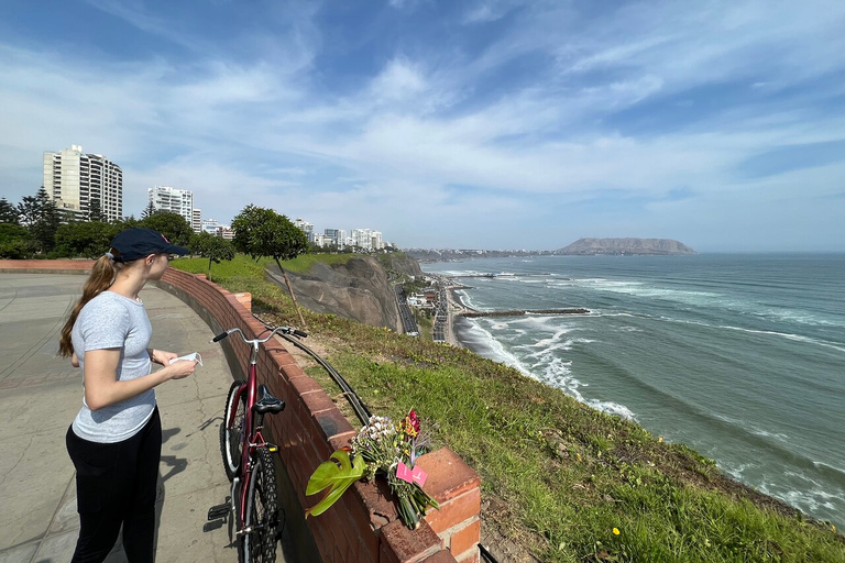
<svg viewBox="0 0 845 563">
<path fill-rule="evenodd" d="M 285 288 L 275 266 L 268 276 Z M 419 264 L 406 256 L 354 256 L 345 264 L 315 264 L 306 274 L 287 273 L 300 307 L 337 314 L 372 327 L 400 331 L 396 294 L 392 282 L 422 276 Z"/>
</svg>

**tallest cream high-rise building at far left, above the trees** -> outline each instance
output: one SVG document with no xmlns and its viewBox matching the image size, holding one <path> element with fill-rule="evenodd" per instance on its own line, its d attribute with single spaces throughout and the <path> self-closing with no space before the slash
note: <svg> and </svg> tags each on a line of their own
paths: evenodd
<svg viewBox="0 0 845 563">
<path fill-rule="evenodd" d="M 90 219 L 94 200 L 106 220 L 123 218 L 123 170 L 100 154 L 83 153 L 79 145 L 44 152 L 44 189 L 77 220 Z"/>
</svg>

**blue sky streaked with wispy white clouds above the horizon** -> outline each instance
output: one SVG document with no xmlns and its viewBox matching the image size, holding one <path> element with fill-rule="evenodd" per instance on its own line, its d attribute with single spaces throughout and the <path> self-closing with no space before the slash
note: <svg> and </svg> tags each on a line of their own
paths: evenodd
<svg viewBox="0 0 845 563">
<path fill-rule="evenodd" d="M 72 144 L 399 247 L 845 251 L 845 2 L 0 0 L 0 197 Z"/>
</svg>

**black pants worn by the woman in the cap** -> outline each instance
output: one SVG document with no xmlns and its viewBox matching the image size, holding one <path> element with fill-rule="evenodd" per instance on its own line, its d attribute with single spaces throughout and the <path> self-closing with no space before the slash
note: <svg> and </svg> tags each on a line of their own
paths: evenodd
<svg viewBox="0 0 845 563">
<path fill-rule="evenodd" d="M 102 562 L 123 525 L 130 563 L 152 563 L 155 494 L 162 456 L 158 408 L 135 435 L 116 443 L 83 440 L 67 430 L 67 453 L 76 467 L 79 540 L 72 563 Z"/>
</svg>

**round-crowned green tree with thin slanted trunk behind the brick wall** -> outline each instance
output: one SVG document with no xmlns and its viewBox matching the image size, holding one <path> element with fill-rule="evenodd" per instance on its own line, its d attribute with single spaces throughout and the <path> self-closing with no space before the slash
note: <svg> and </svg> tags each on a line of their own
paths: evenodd
<svg viewBox="0 0 845 563">
<path fill-rule="evenodd" d="M 299 321 L 305 328 L 305 319 L 299 310 L 299 303 L 296 302 L 294 289 L 290 287 L 290 280 L 287 278 L 287 273 L 282 267 L 281 261 L 293 260 L 307 252 L 308 238 L 287 217 L 276 213 L 272 209 L 252 205 L 243 208 L 243 211 L 232 220 L 232 230 L 234 231 L 232 242 L 235 249 L 249 254 L 253 260 L 272 256 L 276 261 L 276 266 L 278 266 L 287 284 L 290 299 L 296 305 Z"/>
</svg>

